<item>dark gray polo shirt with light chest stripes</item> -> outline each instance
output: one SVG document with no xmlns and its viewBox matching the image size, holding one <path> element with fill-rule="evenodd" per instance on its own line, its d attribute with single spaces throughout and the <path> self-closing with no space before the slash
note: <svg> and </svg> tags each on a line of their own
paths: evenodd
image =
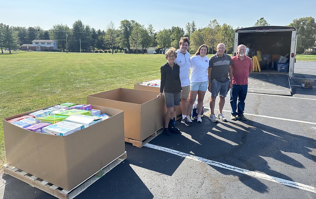
<svg viewBox="0 0 316 199">
<path fill-rule="evenodd" d="M 222 57 L 217 53 L 210 57 L 209 68 L 212 68 L 211 80 L 216 79 L 219 82 L 227 82 L 229 65 L 233 65 L 233 60 L 228 54 Z"/>
</svg>

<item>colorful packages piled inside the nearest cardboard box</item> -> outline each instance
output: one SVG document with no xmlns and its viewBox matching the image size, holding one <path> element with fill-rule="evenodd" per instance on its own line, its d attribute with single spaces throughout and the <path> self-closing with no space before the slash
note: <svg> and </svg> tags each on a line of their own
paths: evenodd
<svg viewBox="0 0 316 199">
<path fill-rule="evenodd" d="M 109 117 L 107 114 L 101 115 L 98 109 L 92 110 L 91 105 L 66 102 L 8 122 L 34 132 L 66 136 Z"/>
</svg>

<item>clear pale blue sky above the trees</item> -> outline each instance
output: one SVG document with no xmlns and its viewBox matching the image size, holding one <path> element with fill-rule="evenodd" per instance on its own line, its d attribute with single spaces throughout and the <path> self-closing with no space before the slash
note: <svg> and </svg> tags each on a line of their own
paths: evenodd
<svg viewBox="0 0 316 199">
<path fill-rule="evenodd" d="M 298 17 L 312 16 L 316 19 L 316 0 L 2 0 L 1 8 L 0 23 L 9 26 L 40 26 L 44 30 L 56 24 L 71 28 L 79 19 L 97 30 L 106 29 L 111 21 L 118 28 L 120 21 L 127 19 L 135 20 L 145 27 L 152 24 L 156 31 L 171 26 L 185 28 L 185 24 L 192 20 L 197 28 L 206 27 L 214 19 L 221 25 L 226 23 L 237 28 L 253 26 L 260 17 L 275 26 L 289 25 Z"/>
</svg>

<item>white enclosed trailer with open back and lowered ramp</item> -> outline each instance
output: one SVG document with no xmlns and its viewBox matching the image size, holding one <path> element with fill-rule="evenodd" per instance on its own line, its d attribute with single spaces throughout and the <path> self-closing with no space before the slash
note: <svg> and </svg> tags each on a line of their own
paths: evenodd
<svg viewBox="0 0 316 199">
<path fill-rule="evenodd" d="M 249 75 L 248 92 L 291 95 L 291 81 L 294 75 L 297 31 L 291 26 L 254 26 L 235 31 L 234 53 L 240 44 L 250 48 L 249 57 L 258 51 L 264 57 L 276 58 L 279 55 L 288 58 L 286 71 L 278 72 L 270 60 L 265 70 Z"/>
</svg>

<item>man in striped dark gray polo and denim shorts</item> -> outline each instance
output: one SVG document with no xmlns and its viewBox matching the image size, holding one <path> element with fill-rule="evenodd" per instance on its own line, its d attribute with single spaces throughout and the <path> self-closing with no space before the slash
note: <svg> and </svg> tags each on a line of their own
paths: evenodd
<svg viewBox="0 0 316 199">
<path fill-rule="evenodd" d="M 232 65 L 233 61 L 232 58 L 225 54 L 225 44 L 219 43 L 216 47 L 217 53 L 210 57 L 209 61 L 209 69 L 208 69 L 208 76 L 209 76 L 209 87 L 208 90 L 211 92 L 210 98 L 210 109 L 211 115 L 209 119 L 212 122 L 218 122 L 218 119 L 222 121 L 226 121 L 226 118 L 223 116 L 222 111 L 225 105 L 225 97 L 228 93 L 228 90 L 232 88 L 233 83 L 230 81 L 232 79 Z M 218 106 L 219 110 L 218 113 L 215 115 L 215 101 L 216 97 L 219 93 L 219 101 Z"/>
</svg>

